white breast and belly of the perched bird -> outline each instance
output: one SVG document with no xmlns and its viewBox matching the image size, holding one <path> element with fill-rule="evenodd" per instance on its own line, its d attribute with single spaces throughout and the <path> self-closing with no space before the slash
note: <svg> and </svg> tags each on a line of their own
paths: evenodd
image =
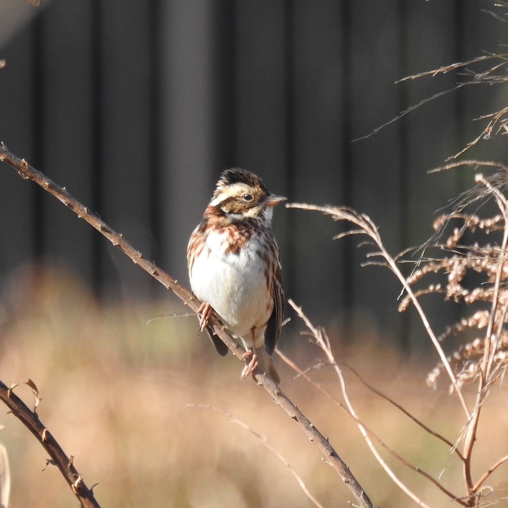
<svg viewBox="0 0 508 508">
<path fill-rule="evenodd" d="M 225 253 L 217 233 L 210 233 L 206 246 L 194 260 L 190 285 L 197 298 L 208 302 L 232 332 L 250 342 L 256 327 L 256 346 L 263 340 L 272 310 L 265 267 L 256 253 L 259 240 L 253 236 L 237 254 Z"/>
</svg>

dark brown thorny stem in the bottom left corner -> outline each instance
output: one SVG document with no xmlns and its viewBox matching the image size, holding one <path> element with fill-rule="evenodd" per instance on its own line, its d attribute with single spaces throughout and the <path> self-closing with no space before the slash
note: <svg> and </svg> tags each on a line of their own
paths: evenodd
<svg viewBox="0 0 508 508">
<path fill-rule="evenodd" d="M 26 404 L 0 381 L 0 399 L 9 407 L 12 414 L 18 418 L 25 427 L 37 438 L 46 452 L 51 457 L 51 463 L 58 467 L 63 478 L 71 487 L 83 508 L 101 508 L 93 497 L 92 491 L 85 485 L 81 474 L 73 464 L 73 458 L 69 458 L 48 429 L 39 420 L 35 411 L 28 409 Z M 39 399 L 38 399 L 39 400 Z"/>
</svg>

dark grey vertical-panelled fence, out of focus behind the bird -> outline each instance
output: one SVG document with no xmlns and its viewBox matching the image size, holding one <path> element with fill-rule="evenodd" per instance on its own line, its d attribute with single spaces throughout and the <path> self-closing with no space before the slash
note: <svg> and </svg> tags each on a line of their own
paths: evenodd
<svg viewBox="0 0 508 508">
<path fill-rule="evenodd" d="M 26 9 L 4 2 L 4 25 L 9 5 Z M 217 175 L 233 166 L 291 201 L 369 214 L 393 253 L 423 242 L 435 211 L 472 176 L 427 170 L 475 137 L 482 124 L 472 119 L 502 99 L 494 87 L 461 89 L 352 143 L 466 78 L 395 81 L 499 50 L 506 23 L 486 12 L 496 9 L 488 0 L 53 0 L 29 9 L 0 46 L 0 141 L 185 282 L 187 239 Z M 499 159 L 500 143 L 489 143 L 469 156 Z M 162 294 L 8 167 L 0 217 L 0 280 L 47 260 L 106 297 Z M 377 329 L 419 343 L 421 330 L 397 313 L 394 277 L 360 266 L 357 237 L 332 241 L 343 228 L 276 209 L 287 296 L 345 336 Z M 450 316 L 433 305 L 439 327 Z"/>
</svg>

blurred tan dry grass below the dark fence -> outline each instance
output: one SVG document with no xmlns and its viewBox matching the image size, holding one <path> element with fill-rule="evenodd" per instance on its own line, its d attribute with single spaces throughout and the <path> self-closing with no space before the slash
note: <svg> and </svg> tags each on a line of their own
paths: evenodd
<svg viewBox="0 0 508 508">
<path fill-rule="evenodd" d="M 150 317 L 180 308 L 100 308 L 83 284 L 61 268 L 39 272 L 35 283 L 29 273 L 24 269 L 14 274 L 4 291 L 2 379 L 10 384 L 29 377 L 38 385 L 41 420 L 66 452 L 76 456 L 87 484 L 99 482 L 94 492 L 102 506 L 312 506 L 288 468 L 250 433 L 223 415 L 188 403 L 210 404 L 240 417 L 266 436 L 324 506 L 348 505 L 351 493 L 302 431 L 251 379 L 238 382 L 240 364 L 231 356 L 218 358 L 211 344 L 196 335 L 195 320 L 173 318 L 146 325 Z M 304 339 L 294 339 L 302 348 L 290 354 L 306 357 L 302 367 L 322 359 Z M 429 390 L 428 366 L 405 363 L 396 352 L 378 347 L 380 343 L 373 336 L 368 346 L 356 349 L 335 344 L 336 357 L 454 440 L 463 420 L 457 398 L 450 398 L 446 387 L 442 392 Z M 405 495 L 371 457 L 354 421 L 304 379 L 294 380 L 280 360 L 278 366 L 282 389 L 330 438 L 375 505 L 407 505 Z M 332 369 L 311 375 L 339 397 Z M 460 464 L 446 446 L 347 372 L 346 377 L 367 426 L 427 472 L 438 476 L 444 470 L 442 482 L 451 490 L 463 490 Z M 505 400 L 504 392 L 504 387 L 493 392 L 484 406 L 482 446 L 475 457 L 479 471 L 492 462 L 491 450 L 499 451 L 508 437 L 499 425 L 508 420 L 508 408 L 496 403 Z M 16 393 L 27 402 L 33 399 L 26 386 L 20 385 Z M 0 438 L 11 460 L 10 505 L 75 503 L 56 468 L 42 471 L 47 457 L 26 429 L 11 415 L 0 423 L 6 427 Z M 382 454 L 428 504 L 448 504 L 418 474 Z M 501 466 L 490 479 L 501 490 L 489 501 L 502 496 L 503 473 Z"/>
</svg>

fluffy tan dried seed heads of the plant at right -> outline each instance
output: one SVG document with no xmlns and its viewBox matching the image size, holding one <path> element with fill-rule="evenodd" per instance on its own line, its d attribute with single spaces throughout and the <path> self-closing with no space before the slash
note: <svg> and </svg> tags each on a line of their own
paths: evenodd
<svg viewBox="0 0 508 508">
<path fill-rule="evenodd" d="M 489 178 L 477 175 L 476 180 L 478 185 L 460 196 L 450 213 L 434 221 L 436 235 L 424 248 L 428 252 L 436 247 L 440 258 L 421 258 L 418 268 L 407 278 L 412 286 L 429 274 L 441 274 L 440 283 L 414 289 L 415 295 L 440 293 L 445 300 L 465 304 L 471 309 L 439 337 L 441 342 L 452 336 L 464 337 L 463 343 L 448 358 L 459 387 L 476 379 L 480 373 L 487 382 L 497 379 L 508 358 L 508 332 L 505 330 L 508 322 L 508 203 L 503 194 L 508 174 L 501 171 Z M 479 210 L 492 199 L 498 209 L 492 216 L 481 217 Z M 467 213 L 473 205 L 474 213 Z M 473 241 L 464 239 L 466 233 Z M 466 283 L 466 276 L 472 272 L 477 275 L 468 277 Z M 406 296 L 399 310 L 406 310 L 409 303 L 410 298 Z M 428 374 L 429 386 L 435 386 L 444 371 L 445 366 L 440 362 Z M 454 390 L 452 386 L 451 392 Z"/>
</svg>

